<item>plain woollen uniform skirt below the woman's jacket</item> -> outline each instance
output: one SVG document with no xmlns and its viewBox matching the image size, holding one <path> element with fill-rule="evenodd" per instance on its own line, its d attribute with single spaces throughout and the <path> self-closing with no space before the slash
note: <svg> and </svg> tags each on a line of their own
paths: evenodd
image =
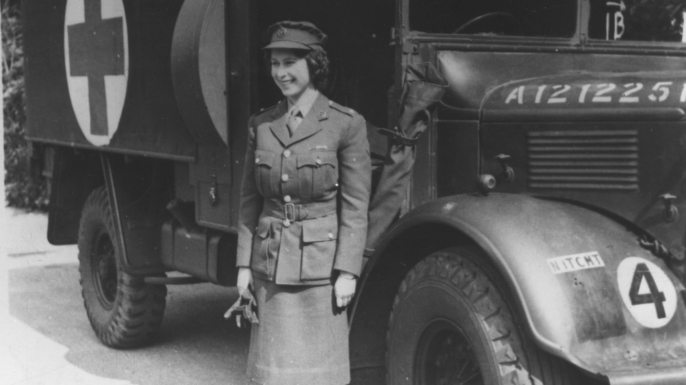
<svg viewBox="0 0 686 385">
<path fill-rule="evenodd" d="M 289 286 L 254 279 L 260 323 L 252 325 L 248 376 L 264 385 L 350 382 L 348 320 L 331 285 Z"/>
</svg>

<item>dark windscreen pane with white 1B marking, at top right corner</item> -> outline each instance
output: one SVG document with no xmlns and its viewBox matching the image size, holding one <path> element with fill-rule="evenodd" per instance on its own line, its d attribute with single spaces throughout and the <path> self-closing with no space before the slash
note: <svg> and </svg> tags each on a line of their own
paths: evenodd
<svg viewBox="0 0 686 385">
<path fill-rule="evenodd" d="M 685 12 L 684 0 L 592 0 L 589 36 L 683 43 Z"/>
</svg>

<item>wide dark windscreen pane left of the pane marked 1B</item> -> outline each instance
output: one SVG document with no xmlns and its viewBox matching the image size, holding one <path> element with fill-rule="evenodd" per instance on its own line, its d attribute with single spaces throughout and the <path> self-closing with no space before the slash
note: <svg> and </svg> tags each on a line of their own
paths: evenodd
<svg viewBox="0 0 686 385">
<path fill-rule="evenodd" d="M 410 28 L 458 35 L 571 37 L 576 1 L 410 0 Z"/>
</svg>

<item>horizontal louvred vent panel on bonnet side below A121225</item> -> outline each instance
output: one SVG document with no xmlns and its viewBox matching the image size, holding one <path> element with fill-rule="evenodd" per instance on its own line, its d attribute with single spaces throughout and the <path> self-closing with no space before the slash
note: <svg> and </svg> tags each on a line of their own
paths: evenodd
<svg viewBox="0 0 686 385">
<path fill-rule="evenodd" d="M 530 131 L 529 187 L 638 190 L 637 130 Z"/>
</svg>

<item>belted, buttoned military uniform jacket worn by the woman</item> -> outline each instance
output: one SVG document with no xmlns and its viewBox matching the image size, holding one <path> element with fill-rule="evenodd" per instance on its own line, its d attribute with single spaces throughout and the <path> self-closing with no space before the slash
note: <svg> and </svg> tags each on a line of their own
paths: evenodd
<svg viewBox="0 0 686 385">
<path fill-rule="evenodd" d="M 364 118 L 320 94 L 291 136 L 287 108 L 250 118 L 236 264 L 287 285 L 359 276 L 371 185 Z"/>
</svg>

